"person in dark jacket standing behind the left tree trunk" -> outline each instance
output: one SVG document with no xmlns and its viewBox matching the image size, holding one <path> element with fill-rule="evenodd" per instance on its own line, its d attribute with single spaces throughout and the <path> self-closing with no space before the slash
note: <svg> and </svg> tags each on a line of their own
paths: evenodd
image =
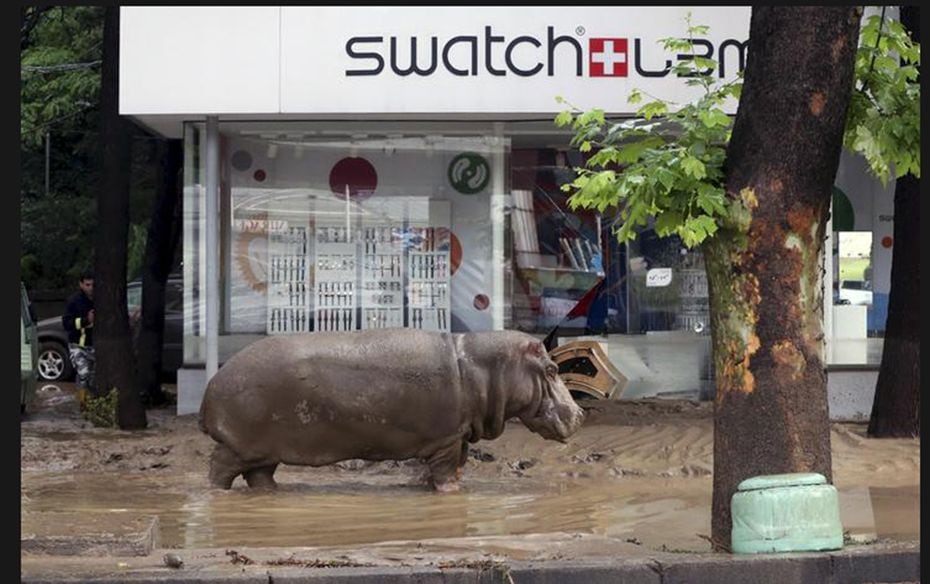
<svg viewBox="0 0 930 584">
<path fill-rule="evenodd" d="M 83 272 L 77 292 L 68 298 L 61 317 L 68 331 L 68 352 L 77 374 L 78 402 L 84 407 L 88 393 L 96 390 L 94 367 L 94 275 Z"/>
</svg>

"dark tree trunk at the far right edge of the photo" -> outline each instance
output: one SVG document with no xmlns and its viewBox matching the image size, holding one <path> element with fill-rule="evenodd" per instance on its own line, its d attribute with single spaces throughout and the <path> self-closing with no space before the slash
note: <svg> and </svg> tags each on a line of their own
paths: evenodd
<svg viewBox="0 0 930 584">
<path fill-rule="evenodd" d="M 901 23 L 920 42 L 920 9 L 901 7 Z M 869 436 L 920 436 L 920 179 L 908 174 L 894 188 L 891 288 L 882 364 L 875 384 Z"/>
</svg>

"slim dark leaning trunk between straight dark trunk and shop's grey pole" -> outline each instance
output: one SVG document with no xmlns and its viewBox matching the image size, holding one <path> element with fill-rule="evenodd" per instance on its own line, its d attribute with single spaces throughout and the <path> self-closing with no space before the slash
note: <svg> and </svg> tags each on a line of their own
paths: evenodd
<svg viewBox="0 0 930 584">
<path fill-rule="evenodd" d="M 148 402 L 164 403 L 160 376 L 165 331 L 165 283 L 174 263 L 181 237 L 180 171 L 183 162 L 180 140 L 159 142 L 156 157 L 161 173 L 145 243 L 142 272 L 142 324 L 136 344 L 139 383 Z"/>
</svg>

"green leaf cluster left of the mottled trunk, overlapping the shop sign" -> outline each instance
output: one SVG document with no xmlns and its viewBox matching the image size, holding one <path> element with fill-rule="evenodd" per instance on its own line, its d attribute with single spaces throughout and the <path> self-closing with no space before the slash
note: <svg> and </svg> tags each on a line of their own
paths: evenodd
<svg viewBox="0 0 930 584">
<path fill-rule="evenodd" d="M 676 104 L 634 90 L 629 103 L 642 104 L 636 117 L 608 122 L 602 109 L 580 111 L 564 98 L 557 98 L 570 109 L 555 120 L 558 126 L 571 126 L 571 144 L 581 152 L 593 152 L 585 168 L 576 168 L 575 180 L 562 188 L 571 192 L 573 209 L 616 207 L 622 224 L 619 240 L 636 237 L 636 230 L 655 218 L 660 236 L 678 235 L 689 248 L 712 236 L 721 224 L 739 227 L 743 203 L 728 200 L 724 194 L 726 145 L 732 120 L 723 107 L 738 99 L 742 83 L 724 83 L 714 76 L 717 62 L 698 56 L 694 37 L 707 34 L 708 27 L 691 23 L 687 17 L 687 38 L 670 37 L 660 42 L 667 51 L 689 54 L 691 58 L 672 67 L 672 73 L 686 77 L 687 85 L 698 88 L 692 102 Z"/>
</svg>

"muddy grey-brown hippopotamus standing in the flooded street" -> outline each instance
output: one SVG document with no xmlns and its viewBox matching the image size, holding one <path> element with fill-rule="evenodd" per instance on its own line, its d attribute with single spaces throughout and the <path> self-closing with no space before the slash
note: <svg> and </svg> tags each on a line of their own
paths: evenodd
<svg viewBox="0 0 930 584">
<path fill-rule="evenodd" d="M 265 337 L 207 384 L 200 429 L 215 441 L 209 480 L 274 487 L 279 464 L 406 460 L 437 491 L 458 490 L 468 444 L 519 418 L 565 442 L 584 420 L 536 338 L 517 331 L 416 329 Z"/>
</svg>

